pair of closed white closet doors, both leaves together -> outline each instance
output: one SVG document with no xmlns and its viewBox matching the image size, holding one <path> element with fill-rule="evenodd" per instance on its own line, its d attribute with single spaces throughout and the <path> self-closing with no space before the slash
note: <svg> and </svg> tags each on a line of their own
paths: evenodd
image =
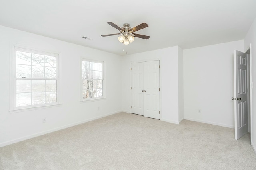
<svg viewBox="0 0 256 170">
<path fill-rule="evenodd" d="M 159 67 L 159 61 L 132 63 L 132 113 L 160 119 Z"/>
</svg>

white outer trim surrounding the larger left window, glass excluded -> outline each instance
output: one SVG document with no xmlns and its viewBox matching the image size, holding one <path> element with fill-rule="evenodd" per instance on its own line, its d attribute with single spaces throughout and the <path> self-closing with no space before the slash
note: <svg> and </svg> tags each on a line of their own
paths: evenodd
<svg viewBox="0 0 256 170">
<path fill-rule="evenodd" d="M 21 111 L 30 111 L 30 110 L 35 110 L 35 109 L 44 109 L 44 108 L 49 108 L 49 107 L 55 107 L 55 106 L 61 106 L 62 105 L 62 97 L 61 97 L 61 54 L 58 52 L 53 52 L 53 51 L 47 51 L 47 50 L 42 50 L 42 49 L 35 49 L 35 48 L 30 48 L 30 47 L 24 47 L 20 45 L 11 45 L 10 48 L 10 109 L 9 113 L 16 113 L 16 112 L 21 112 Z M 14 101 L 16 97 L 16 85 L 14 83 L 14 80 L 16 80 L 16 52 L 17 50 L 21 50 L 24 52 L 29 52 L 29 53 L 37 53 L 37 54 L 43 54 L 43 55 L 52 55 L 56 56 L 56 66 L 58 69 L 56 70 L 56 75 L 58 75 L 57 79 L 57 102 L 55 103 L 49 103 L 49 104 L 38 104 L 38 105 L 30 105 L 30 106 L 20 106 L 16 107 L 15 104 L 16 102 Z"/>
</svg>

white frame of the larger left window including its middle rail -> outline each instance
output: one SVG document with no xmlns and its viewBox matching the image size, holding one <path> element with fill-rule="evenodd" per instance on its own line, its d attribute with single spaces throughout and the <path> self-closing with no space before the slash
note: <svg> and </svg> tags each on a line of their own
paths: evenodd
<svg viewBox="0 0 256 170">
<path fill-rule="evenodd" d="M 16 52 L 22 51 L 26 53 L 35 53 L 40 55 L 50 55 L 56 57 L 56 78 L 26 78 L 26 80 L 56 80 L 56 102 L 44 103 L 44 104 L 31 104 L 28 106 L 16 106 L 16 80 L 23 80 L 22 78 L 16 77 Z M 32 49 L 28 47 L 21 47 L 18 45 L 12 45 L 11 48 L 11 60 L 10 60 L 10 113 L 28 111 L 34 109 L 42 109 L 47 107 L 60 106 L 61 104 L 61 94 L 60 94 L 60 53 L 49 52 L 44 50 Z M 45 66 L 44 66 L 45 67 Z M 25 79 L 24 79 L 25 80 Z"/>
</svg>

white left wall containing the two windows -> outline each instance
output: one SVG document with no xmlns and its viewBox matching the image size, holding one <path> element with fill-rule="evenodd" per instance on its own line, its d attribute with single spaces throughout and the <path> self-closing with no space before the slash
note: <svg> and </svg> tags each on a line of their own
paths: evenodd
<svg viewBox="0 0 256 170">
<path fill-rule="evenodd" d="M 0 37 L 0 147 L 121 110 L 120 56 L 2 26 Z M 62 106 L 9 113 L 11 44 L 61 53 Z M 105 61 L 106 99 L 80 103 L 81 57 Z"/>
</svg>

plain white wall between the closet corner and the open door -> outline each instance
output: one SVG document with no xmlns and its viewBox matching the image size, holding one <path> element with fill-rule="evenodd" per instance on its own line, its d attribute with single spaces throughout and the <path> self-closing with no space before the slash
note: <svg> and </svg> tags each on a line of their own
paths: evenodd
<svg viewBox="0 0 256 170">
<path fill-rule="evenodd" d="M 244 41 L 183 50 L 184 119 L 234 128 L 234 49 Z"/>
</svg>

